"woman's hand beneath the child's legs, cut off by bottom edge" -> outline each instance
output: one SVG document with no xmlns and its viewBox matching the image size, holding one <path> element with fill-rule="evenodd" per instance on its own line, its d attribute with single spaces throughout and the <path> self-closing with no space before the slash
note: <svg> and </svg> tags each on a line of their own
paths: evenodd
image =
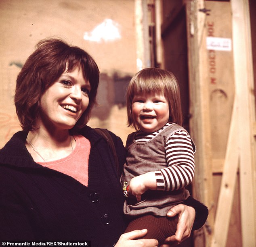
<svg viewBox="0 0 256 247">
<path fill-rule="evenodd" d="M 157 247 L 156 239 L 138 239 L 147 234 L 147 229 L 134 230 L 122 234 L 115 247 Z"/>
</svg>

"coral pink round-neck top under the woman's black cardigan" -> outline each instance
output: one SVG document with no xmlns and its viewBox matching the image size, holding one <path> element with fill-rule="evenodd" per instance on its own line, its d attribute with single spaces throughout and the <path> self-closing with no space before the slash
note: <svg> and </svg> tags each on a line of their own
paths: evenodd
<svg viewBox="0 0 256 247">
<path fill-rule="evenodd" d="M 76 147 L 67 157 L 49 162 L 38 162 L 42 166 L 67 174 L 88 186 L 88 161 L 90 141 L 82 135 L 74 136 Z"/>
</svg>

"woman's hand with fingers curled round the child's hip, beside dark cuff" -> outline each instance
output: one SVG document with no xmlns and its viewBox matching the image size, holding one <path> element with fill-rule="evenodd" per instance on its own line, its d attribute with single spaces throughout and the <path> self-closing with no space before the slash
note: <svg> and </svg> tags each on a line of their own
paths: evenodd
<svg viewBox="0 0 256 247">
<path fill-rule="evenodd" d="M 169 210 L 167 216 L 173 217 L 177 214 L 179 217 L 175 235 L 165 239 L 165 242 L 161 247 L 178 245 L 191 235 L 191 230 L 195 220 L 195 209 L 184 204 L 178 204 Z"/>
</svg>

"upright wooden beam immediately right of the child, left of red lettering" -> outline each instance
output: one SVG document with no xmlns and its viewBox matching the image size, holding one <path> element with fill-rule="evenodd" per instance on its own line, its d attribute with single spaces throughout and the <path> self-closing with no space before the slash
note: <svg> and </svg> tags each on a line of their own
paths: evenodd
<svg viewBox="0 0 256 247">
<path fill-rule="evenodd" d="M 205 84 L 208 81 L 206 44 L 206 15 L 199 12 L 204 8 L 204 1 L 188 1 L 187 11 L 187 41 L 189 60 L 189 94 L 190 94 L 190 131 L 197 145 L 195 154 L 195 180 L 193 182 L 193 195 L 204 202 L 210 209 L 205 225 L 205 236 L 195 233 L 195 246 L 209 246 L 208 238 L 213 228 L 214 207 L 212 189 L 212 154 L 210 139 L 209 117 L 209 89 Z M 206 230 L 206 226 L 207 229 Z M 204 239 L 202 239 L 204 238 Z M 203 243 L 203 244 L 202 244 Z"/>
</svg>

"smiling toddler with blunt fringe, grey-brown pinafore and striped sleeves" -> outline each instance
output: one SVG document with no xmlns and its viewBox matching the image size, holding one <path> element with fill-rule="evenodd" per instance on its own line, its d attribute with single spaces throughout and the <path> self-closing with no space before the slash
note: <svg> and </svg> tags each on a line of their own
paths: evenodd
<svg viewBox="0 0 256 247">
<path fill-rule="evenodd" d="M 174 205 L 189 197 L 195 145 L 181 127 L 180 91 L 174 75 L 145 68 L 132 77 L 126 93 L 128 126 L 136 129 L 126 141 L 127 158 L 121 177 L 126 232 L 148 229 L 159 245 L 176 232 L 178 216 L 167 217 Z"/>
</svg>

